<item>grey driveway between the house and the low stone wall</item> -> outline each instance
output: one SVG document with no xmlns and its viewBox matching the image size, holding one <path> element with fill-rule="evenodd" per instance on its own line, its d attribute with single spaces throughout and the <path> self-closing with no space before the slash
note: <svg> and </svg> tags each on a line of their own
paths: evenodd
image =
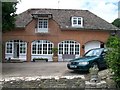
<svg viewBox="0 0 120 90">
<path fill-rule="evenodd" d="M 3 63 L 3 77 L 74 76 L 83 73 L 68 70 L 67 62 Z"/>
</svg>

